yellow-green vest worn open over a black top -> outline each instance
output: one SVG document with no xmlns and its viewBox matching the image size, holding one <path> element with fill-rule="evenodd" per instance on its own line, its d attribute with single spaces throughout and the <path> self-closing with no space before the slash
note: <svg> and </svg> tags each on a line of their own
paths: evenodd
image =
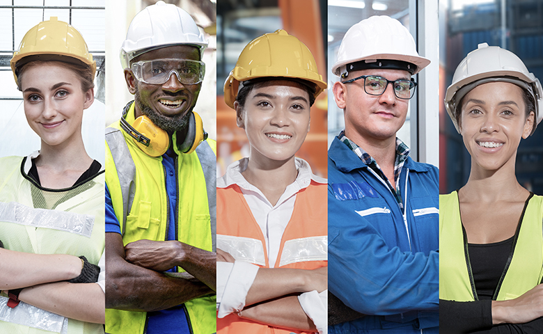
<svg viewBox="0 0 543 334">
<path fill-rule="evenodd" d="M 494 300 L 517 298 L 543 276 L 543 196 L 533 196 L 514 235 L 514 252 L 507 262 Z M 460 218 L 457 192 L 439 196 L 439 298 L 478 300 L 469 264 L 467 237 Z"/>
</svg>

